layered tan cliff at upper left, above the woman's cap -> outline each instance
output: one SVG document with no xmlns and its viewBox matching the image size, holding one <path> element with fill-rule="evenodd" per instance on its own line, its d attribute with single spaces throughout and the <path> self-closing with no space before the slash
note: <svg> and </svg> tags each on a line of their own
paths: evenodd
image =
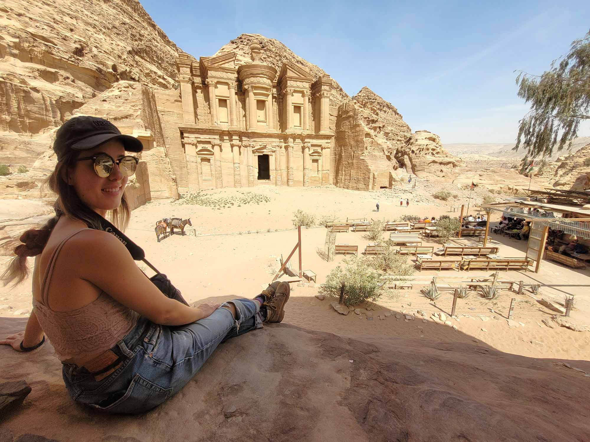
<svg viewBox="0 0 590 442">
<path fill-rule="evenodd" d="M 3 163 L 34 163 L 51 128 L 118 81 L 176 86 L 176 45 L 136 0 L 5 0 L 0 23 Z"/>
</svg>

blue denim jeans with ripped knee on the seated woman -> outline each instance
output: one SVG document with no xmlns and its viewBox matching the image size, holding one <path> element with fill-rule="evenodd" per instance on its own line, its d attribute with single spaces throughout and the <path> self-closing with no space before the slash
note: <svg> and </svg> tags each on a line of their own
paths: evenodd
<svg viewBox="0 0 590 442">
<path fill-rule="evenodd" d="M 143 413 L 179 392 L 221 342 L 262 328 L 258 304 L 250 299 L 235 305 L 234 320 L 219 307 L 191 324 L 166 326 L 140 317 L 135 328 L 112 348 L 123 363 L 96 381 L 86 368 L 63 363 L 65 387 L 74 401 L 109 413 Z M 142 335 L 145 337 L 134 346 Z"/>
</svg>

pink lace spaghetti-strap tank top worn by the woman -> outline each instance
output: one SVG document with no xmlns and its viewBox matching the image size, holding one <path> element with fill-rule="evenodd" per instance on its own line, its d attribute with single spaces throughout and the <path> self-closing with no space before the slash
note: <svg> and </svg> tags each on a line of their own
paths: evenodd
<svg viewBox="0 0 590 442">
<path fill-rule="evenodd" d="M 49 308 L 47 296 L 57 255 L 65 242 L 81 231 L 72 233 L 55 248 L 41 282 L 42 302 L 33 298 L 34 312 L 55 354 L 61 361 L 76 365 L 113 347 L 135 326 L 139 316 L 105 292 L 76 310 L 56 312 Z"/>
</svg>

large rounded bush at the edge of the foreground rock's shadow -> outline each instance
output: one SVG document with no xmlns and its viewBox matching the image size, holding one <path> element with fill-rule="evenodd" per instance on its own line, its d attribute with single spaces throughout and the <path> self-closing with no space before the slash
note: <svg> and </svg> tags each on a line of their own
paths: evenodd
<svg viewBox="0 0 590 442">
<path fill-rule="evenodd" d="M 375 302 L 385 293 L 381 275 L 369 265 L 365 256 L 350 256 L 342 260 L 320 285 L 319 293 L 339 298 L 340 286 L 345 284 L 343 302 L 357 305 L 365 301 Z"/>
</svg>

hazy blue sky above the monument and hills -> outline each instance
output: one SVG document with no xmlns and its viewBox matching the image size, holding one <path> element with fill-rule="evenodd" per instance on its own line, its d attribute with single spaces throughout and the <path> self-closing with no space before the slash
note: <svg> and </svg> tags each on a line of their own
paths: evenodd
<svg viewBox="0 0 590 442">
<path fill-rule="evenodd" d="M 195 57 L 242 33 L 276 38 L 349 95 L 368 86 L 443 143 L 514 141 L 528 110 L 514 70 L 541 74 L 590 29 L 590 2 L 575 0 L 140 1 Z"/>
</svg>

